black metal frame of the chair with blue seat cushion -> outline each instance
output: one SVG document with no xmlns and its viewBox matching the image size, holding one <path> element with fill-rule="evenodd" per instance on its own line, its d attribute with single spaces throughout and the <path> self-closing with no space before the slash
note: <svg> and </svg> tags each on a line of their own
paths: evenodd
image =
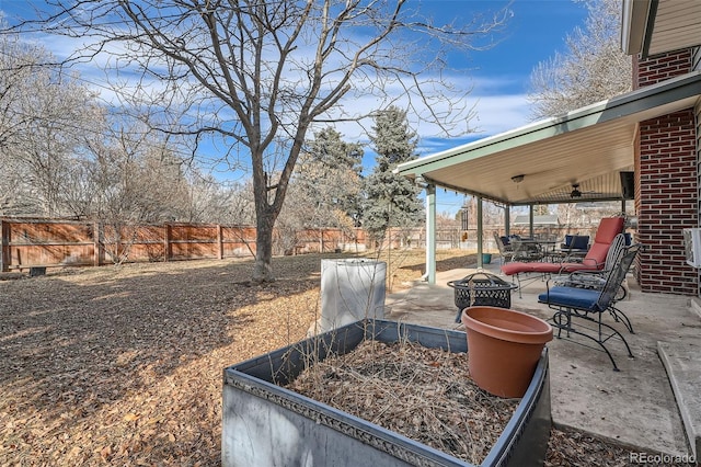
<svg viewBox="0 0 701 467">
<path fill-rule="evenodd" d="M 555 301 L 554 299 L 551 300 L 550 285 L 548 285 L 547 298 L 544 300 L 542 299 L 540 300 L 541 303 L 547 304 L 548 307 L 555 310 L 555 314 L 551 318 L 551 321 L 553 322 L 553 327 L 558 328 L 558 335 L 556 335 L 558 339 L 563 339 L 562 333 L 563 331 L 565 331 L 566 333 L 565 338 L 571 338 L 571 334 L 578 334 L 593 340 L 598 344 L 600 349 L 586 345 L 585 343 L 579 341 L 574 341 L 574 342 L 595 349 L 595 350 L 602 350 L 604 352 L 606 352 L 609 360 L 611 361 L 611 364 L 613 365 L 614 372 L 618 372 L 619 368 L 618 368 L 618 365 L 616 364 L 616 360 L 613 360 L 613 355 L 607 349 L 606 343 L 612 338 L 619 338 L 625 345 L 625 349 L 628 351 L 628 356 L 633 358 L 633 353 L 631 352 L 631 348 L 628 344 L 628 341 L 625 340 L 625 338 L 616 328 L 602 322 L 601 316 L 604 315 L 605 311 L 609 311 L 612 314 L 614 318 L 625 317 L 625 315 L 616 307 L 614 298 L 640 248 L 641 248 L 640 244 L 634 244 L 623 250 L 623 252 L 619 257 L 619 261 L 616 262 L 616 265 L 611 270 L 606 281 L 606 285 L 601 291 L 599 291 L 598 298 L 591 307 L 585 308 L 585 307 L 576 306 L 576 305 L 573 305 L 572 303 L 566 303 L 566 299 L 563 299 L 560 303 Z M 576 291 L 577 291 L 577 287 L 566 287 L 566 286 L 559 286 L 559 287 L 572 288 L 573 295 L 576 294 Z M 559 292 L 566 292 L 566 291 L 559 291 Z M 579 318 L 584 321 L 593 322 L 595 326 L 586 327 L 586 326 L 582 326 L 582 323 L 578 322 L 578 324 L 575 327 L 573 324 L 573 318 Z M 625 317 L 625 320 L 628 321 L 628 326 L 630 326 L 630 320 L 628 320 L 628 317 Z M 589 333 L 584 332 L 582 331 L 582 329 L 588 330 L 590 332 Z"/>
</svg>

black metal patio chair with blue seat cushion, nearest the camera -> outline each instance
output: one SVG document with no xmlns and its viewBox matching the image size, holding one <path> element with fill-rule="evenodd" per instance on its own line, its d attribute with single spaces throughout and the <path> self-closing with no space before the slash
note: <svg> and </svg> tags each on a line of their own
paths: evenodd
<svg viewBox="0 0 701 467">
<path fill-rule="evenodd" d="M 548 284 L 548 291 L 538 297 L 538 301 L 547 304 L 555 310 L 552 322 L 553 328 L 558 328 L 559 339 L 562 339 L 562 332 L 565 331 L 565 338 L 570 338 L 571 334 L 577 334 L 593 340 L 609 356 L 616 372 L 619 368 L 606 343 L 612 338 L 618 338 L 625 345 L 628 356 L 633 357 L 633 353 L 625 338 L 616 328 L 601 322 L 601 316 L 606 311 L 612 312 L 613 316 L 623 315 L 621 310 L 616 308 L 614 297 L 639 250 L 640 244 L 624 249 L 623 254 L 619 257 L 616 266 L 609 274 L 605 287 L 600 291 L 566 286 L 550 287 L 550 284 Z M 573 318 L 582 319 L 585 322 L 594 322 L 596 327 L 586 327 L 581 322 L 575 326 Z"/>
</svg>

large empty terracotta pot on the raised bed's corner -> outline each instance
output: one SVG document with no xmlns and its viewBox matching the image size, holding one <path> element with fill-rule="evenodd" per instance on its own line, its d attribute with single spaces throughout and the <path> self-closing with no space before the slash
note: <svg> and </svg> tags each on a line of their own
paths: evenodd
<svg viewBox="0 0 701 467">
<path fill-rule="evenodd" d="M 549 323 L 525 312 L 496 307 L 462 311 L 468 334 L 468 365 L 479 387 L 494 396 L 524 397 L 543 346 Z"/>
</svg>

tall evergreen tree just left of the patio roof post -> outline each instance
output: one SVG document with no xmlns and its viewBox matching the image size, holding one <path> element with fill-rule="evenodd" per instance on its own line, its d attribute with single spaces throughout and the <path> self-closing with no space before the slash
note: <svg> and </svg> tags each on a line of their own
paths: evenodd
<svg viewBox="0 0 701 467">
<path fill-rule="evenodd" d="M 406 112 L 395 106 L 381 111 L 372 132 L 377 164 L 364 184 L 363 227 L 375 239 L 382 239 L 390 227 L 415 226 L 424 206 L 418 198 L 421 189 L 392 172 L 399 163 L 416 158 L 416 134 L 409 128 Z"/>
</svg>

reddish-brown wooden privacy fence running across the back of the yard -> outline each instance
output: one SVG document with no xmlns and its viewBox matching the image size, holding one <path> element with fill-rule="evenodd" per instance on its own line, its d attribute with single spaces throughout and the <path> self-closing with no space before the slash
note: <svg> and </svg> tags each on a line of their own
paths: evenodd
<svg viewBox="0 0 701 467">
<path fill-rule="evenodd" d="M 492 230 L 503 231 L 503 226 L 485 228 L 483 244 L 487 250 L 496 250 Z M 536 230 L 536 234 L 556 239 L 573 232 L 593 235 L 595 230 L 595 227 L 559 226 L 548 232 Z M 3 272 L 47 266 L 99 266 L 120 261 L 223 259 L 255 254 L 255 228 L 250 226 L 165 224 L 117 228 L 89 221 L 0 218 L 0 271 Z M 291 241 L 281 241 L 279 231 L 274 235 L 277 239 L 276 254 L 424 248 L 426 241 L 424 228 L 390 229 L 381 244 L 371 242 L 359 228 L 349 234 L 333 228 L 308 229 L 295 232 Z M 476 250 L 476 238 L 475 229 L 439 229 L 436 246 L 438 249 Z M 294 247 L 283 248 L 283 243 Z"/>
</svg>

